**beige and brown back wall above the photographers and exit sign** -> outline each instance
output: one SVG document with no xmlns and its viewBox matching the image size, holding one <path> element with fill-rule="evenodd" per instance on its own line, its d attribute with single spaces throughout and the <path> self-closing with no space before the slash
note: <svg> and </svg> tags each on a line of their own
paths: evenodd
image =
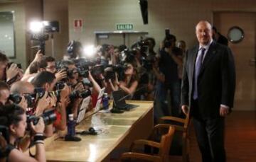
<svg viewBox="0 0 256 162">
<path fill-rule="evenodd" d="M 133 23 L 134 30 L 149 31 L 157 44 L 170 28 L 177 40 L 185 40 L 188 47 L 196 43 L 195 25 L 200 20 L 212 22 L 213 11 L 256 11 L 254 0 L 148 0 L 149 25 L 143 25 L 138 0 L 70 0 L 70 40 L 83 44 L 95 43 L 96 30 L 115 30 L 116 23 Z M 254 4 L 254 5 L 253 5 Z M 73 20 L 82 18 L 82 32 L 74 32 Z"/>
</svg>

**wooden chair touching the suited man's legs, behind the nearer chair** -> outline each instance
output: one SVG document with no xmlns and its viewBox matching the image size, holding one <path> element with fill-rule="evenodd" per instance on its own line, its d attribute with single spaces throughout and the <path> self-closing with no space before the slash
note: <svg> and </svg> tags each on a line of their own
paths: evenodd
<svg viewBox="0 0 256 162">
<path fill-rule="evenodd" d="M 182 161 L 188 162 L 189 161 L 189 136 L 188 136 L 188 125 L 190 123 L 190 111 L 188 110 L 188 114 L 186 115 L 186 118 L 180 118 L 180 117 L 172 117 L 172 116 L 166 116 L 160 118 L 160 123 L 164 123 L 166 121 L 175 122 L 176 124 L 167 124 L 174 126 L 176 129 L 176 132 L 182 132 Z M 178 125 L 181 124 L 181 125 Z"/>
</svg>

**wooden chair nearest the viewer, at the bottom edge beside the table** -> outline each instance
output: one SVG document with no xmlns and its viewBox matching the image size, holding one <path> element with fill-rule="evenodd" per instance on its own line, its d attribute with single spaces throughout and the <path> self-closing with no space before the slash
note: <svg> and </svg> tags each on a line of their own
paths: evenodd
<svg viewBox="0 0 256 162">
<path fill-rule="evenodd" d="M 167 128 L 168 132 L 167 134 L 164 134 L 161 136 L 160 142 L 156 141 L 149 141 L 146 139 L 139 139 L 133 142 L 133 144 L 130 147 L 130 152 L 124 153 L 121 156 L 121 161 L 125 159 L 137 159 L 137 160 L 144 160 L 144 161 L 157 161 L 157 162 L 164 162 L 168 161 L 168 156 L 169 156 L 169 149 L 171 146 L 171 141 L 174 137 L 174 131 L 175 128 L 171 127 L 170 125 L 156 125 L 154 127 L 154 130 L 159 129 L 159 128 Z M 153 148 L 159 149 L 158 154 L 144 154 L 144 153 L 137 153 L 137 152 L 132 152 L 134 149 L 135 145 L 144 145 L 144 146 L 151 146 Z"/>
</svg>

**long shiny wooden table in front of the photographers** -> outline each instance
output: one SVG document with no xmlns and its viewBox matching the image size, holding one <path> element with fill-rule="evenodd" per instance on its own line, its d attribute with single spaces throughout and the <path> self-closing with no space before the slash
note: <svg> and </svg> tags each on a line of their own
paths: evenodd
<svg viewBox="0 0 256 162">
<path fill-rule="evenodd" d="M 81 136 L 82 141 L 50 140 L 46 144 L 48 161 L 109 161 L 110 153 L 128 148 L 134 139 L 146 138 L 153 128 L 153 102 L 129 101 L 139 107 L 122 114 L 97 113 L 83 120 L 76 131 L 94 127 L 96 136 Z"/>
</svg>

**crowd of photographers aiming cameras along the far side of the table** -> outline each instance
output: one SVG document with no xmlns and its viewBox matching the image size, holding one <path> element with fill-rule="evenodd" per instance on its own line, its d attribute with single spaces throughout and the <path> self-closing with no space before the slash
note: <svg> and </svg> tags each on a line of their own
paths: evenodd
<svg viewBox="0 0 256 162">
<path fill-rule="evenodd" d="M 76 119 L 85 98 L 91 98 L 87 111 L 95 108 L 103 87 L 110 98 L 112 91 L 122 90 L 128 99 L 154 100 L 155 120 L 179 116 L 186 46 L 179 42 L 181 50 L 175 41 L 174 35 L 166 35 L 157 53 L 151 37 L 129 50 L 125 45 L 102 45 L 91 58 L 82 57 L 80 42 L 72 42 L 60 61 L 38 50 L 26 71 L 0 53 L 0 161 L 46 161 L 43 139 L 65 130 L 68 115 Z M 33 157 L 23 153 L 32 145 Z"/>
</svg>

